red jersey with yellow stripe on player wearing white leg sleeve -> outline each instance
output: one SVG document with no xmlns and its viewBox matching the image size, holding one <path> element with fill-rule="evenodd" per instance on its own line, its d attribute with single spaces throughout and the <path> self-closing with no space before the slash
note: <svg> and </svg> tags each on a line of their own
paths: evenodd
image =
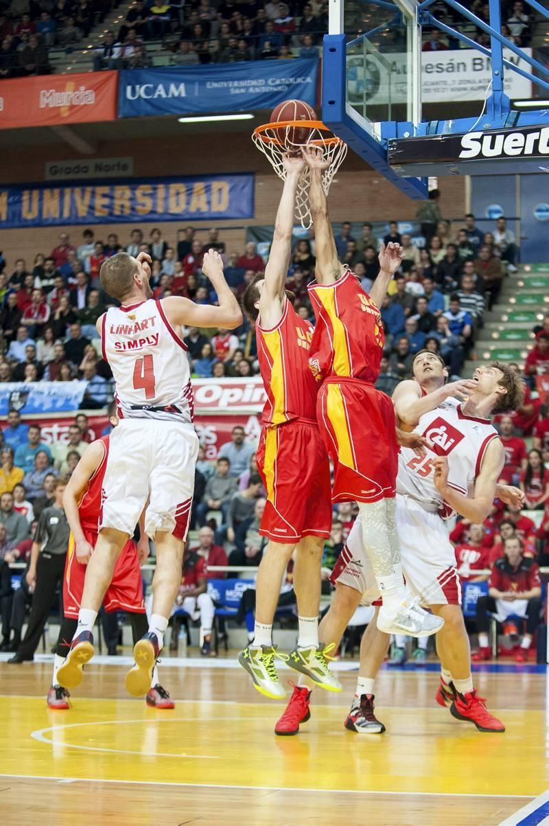
<svg viewBox="0 0 549 826">
<path fill-rule="evenodd" d="M 309 286 L 317 324 L 310 368 L 319 381 L 353 377 L 376 382 L 385 333 L 381 314 L 349 270 L 334 284 Z"/>
</svg>

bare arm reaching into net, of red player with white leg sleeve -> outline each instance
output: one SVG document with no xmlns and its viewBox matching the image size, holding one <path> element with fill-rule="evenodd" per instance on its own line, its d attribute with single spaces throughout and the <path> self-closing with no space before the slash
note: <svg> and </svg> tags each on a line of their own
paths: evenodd
<svg viewBox="0 0 549 826">
<path fill-rule="evenodd" d="M 322 173 L 328 169 L 329 161 L 316 146 L 304 146 L 301 151 L 310 170 L 309 207 L 315 230 L 316 280 L 319 284 L 333 284 L 341 278 L 345 268 L 338 259 L 328 201 L 322 188 Z"/>
</svg>

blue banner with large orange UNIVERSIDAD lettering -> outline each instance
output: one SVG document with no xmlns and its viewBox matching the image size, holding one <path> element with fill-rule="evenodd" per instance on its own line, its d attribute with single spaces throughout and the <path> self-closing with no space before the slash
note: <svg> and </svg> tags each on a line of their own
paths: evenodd
<svg viewBox="0 0 549 826">
<path fill-rule="evenodd" d="M 0 188 L 0 230 L 220 218 L 253 218 L 253 175 Z"/>
</svg>

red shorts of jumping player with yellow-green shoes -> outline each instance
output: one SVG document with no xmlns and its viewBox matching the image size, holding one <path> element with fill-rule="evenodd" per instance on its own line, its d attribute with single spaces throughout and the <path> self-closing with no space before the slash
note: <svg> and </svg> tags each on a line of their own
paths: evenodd
<svg viewBox="0 0 549 826">
<path fill-rule="evenodd" d="M 316 422 L 263 428 L 256 461 L 267 491 L 259 533 L 285 544 L 329 537 L 329 460 Z"/>
</svg>

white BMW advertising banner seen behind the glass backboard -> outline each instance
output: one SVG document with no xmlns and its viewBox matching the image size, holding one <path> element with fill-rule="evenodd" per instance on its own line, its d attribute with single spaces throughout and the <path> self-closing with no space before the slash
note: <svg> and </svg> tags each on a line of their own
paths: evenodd
<svg viewBox="0 0 549 826">
<path fill-rule="evenodd" d="M 532 57 L 532 49 L 525 49 Z M 532 74 L 532 66 L 504 49 L 504 58 Z M 348 101 L 351 105 L 404 103 L 408 99 L 408 60 L 405 52 L 368 54 L 347 59 Z M 475 49 L 421 53 L 421 98 L 424 103 L 479 101 L 492 79 L 490 58 Z M 532 81 L 510 69 L 504 70 L 505 93 L 510 98 L 530 97 Z"/>
</svg>

